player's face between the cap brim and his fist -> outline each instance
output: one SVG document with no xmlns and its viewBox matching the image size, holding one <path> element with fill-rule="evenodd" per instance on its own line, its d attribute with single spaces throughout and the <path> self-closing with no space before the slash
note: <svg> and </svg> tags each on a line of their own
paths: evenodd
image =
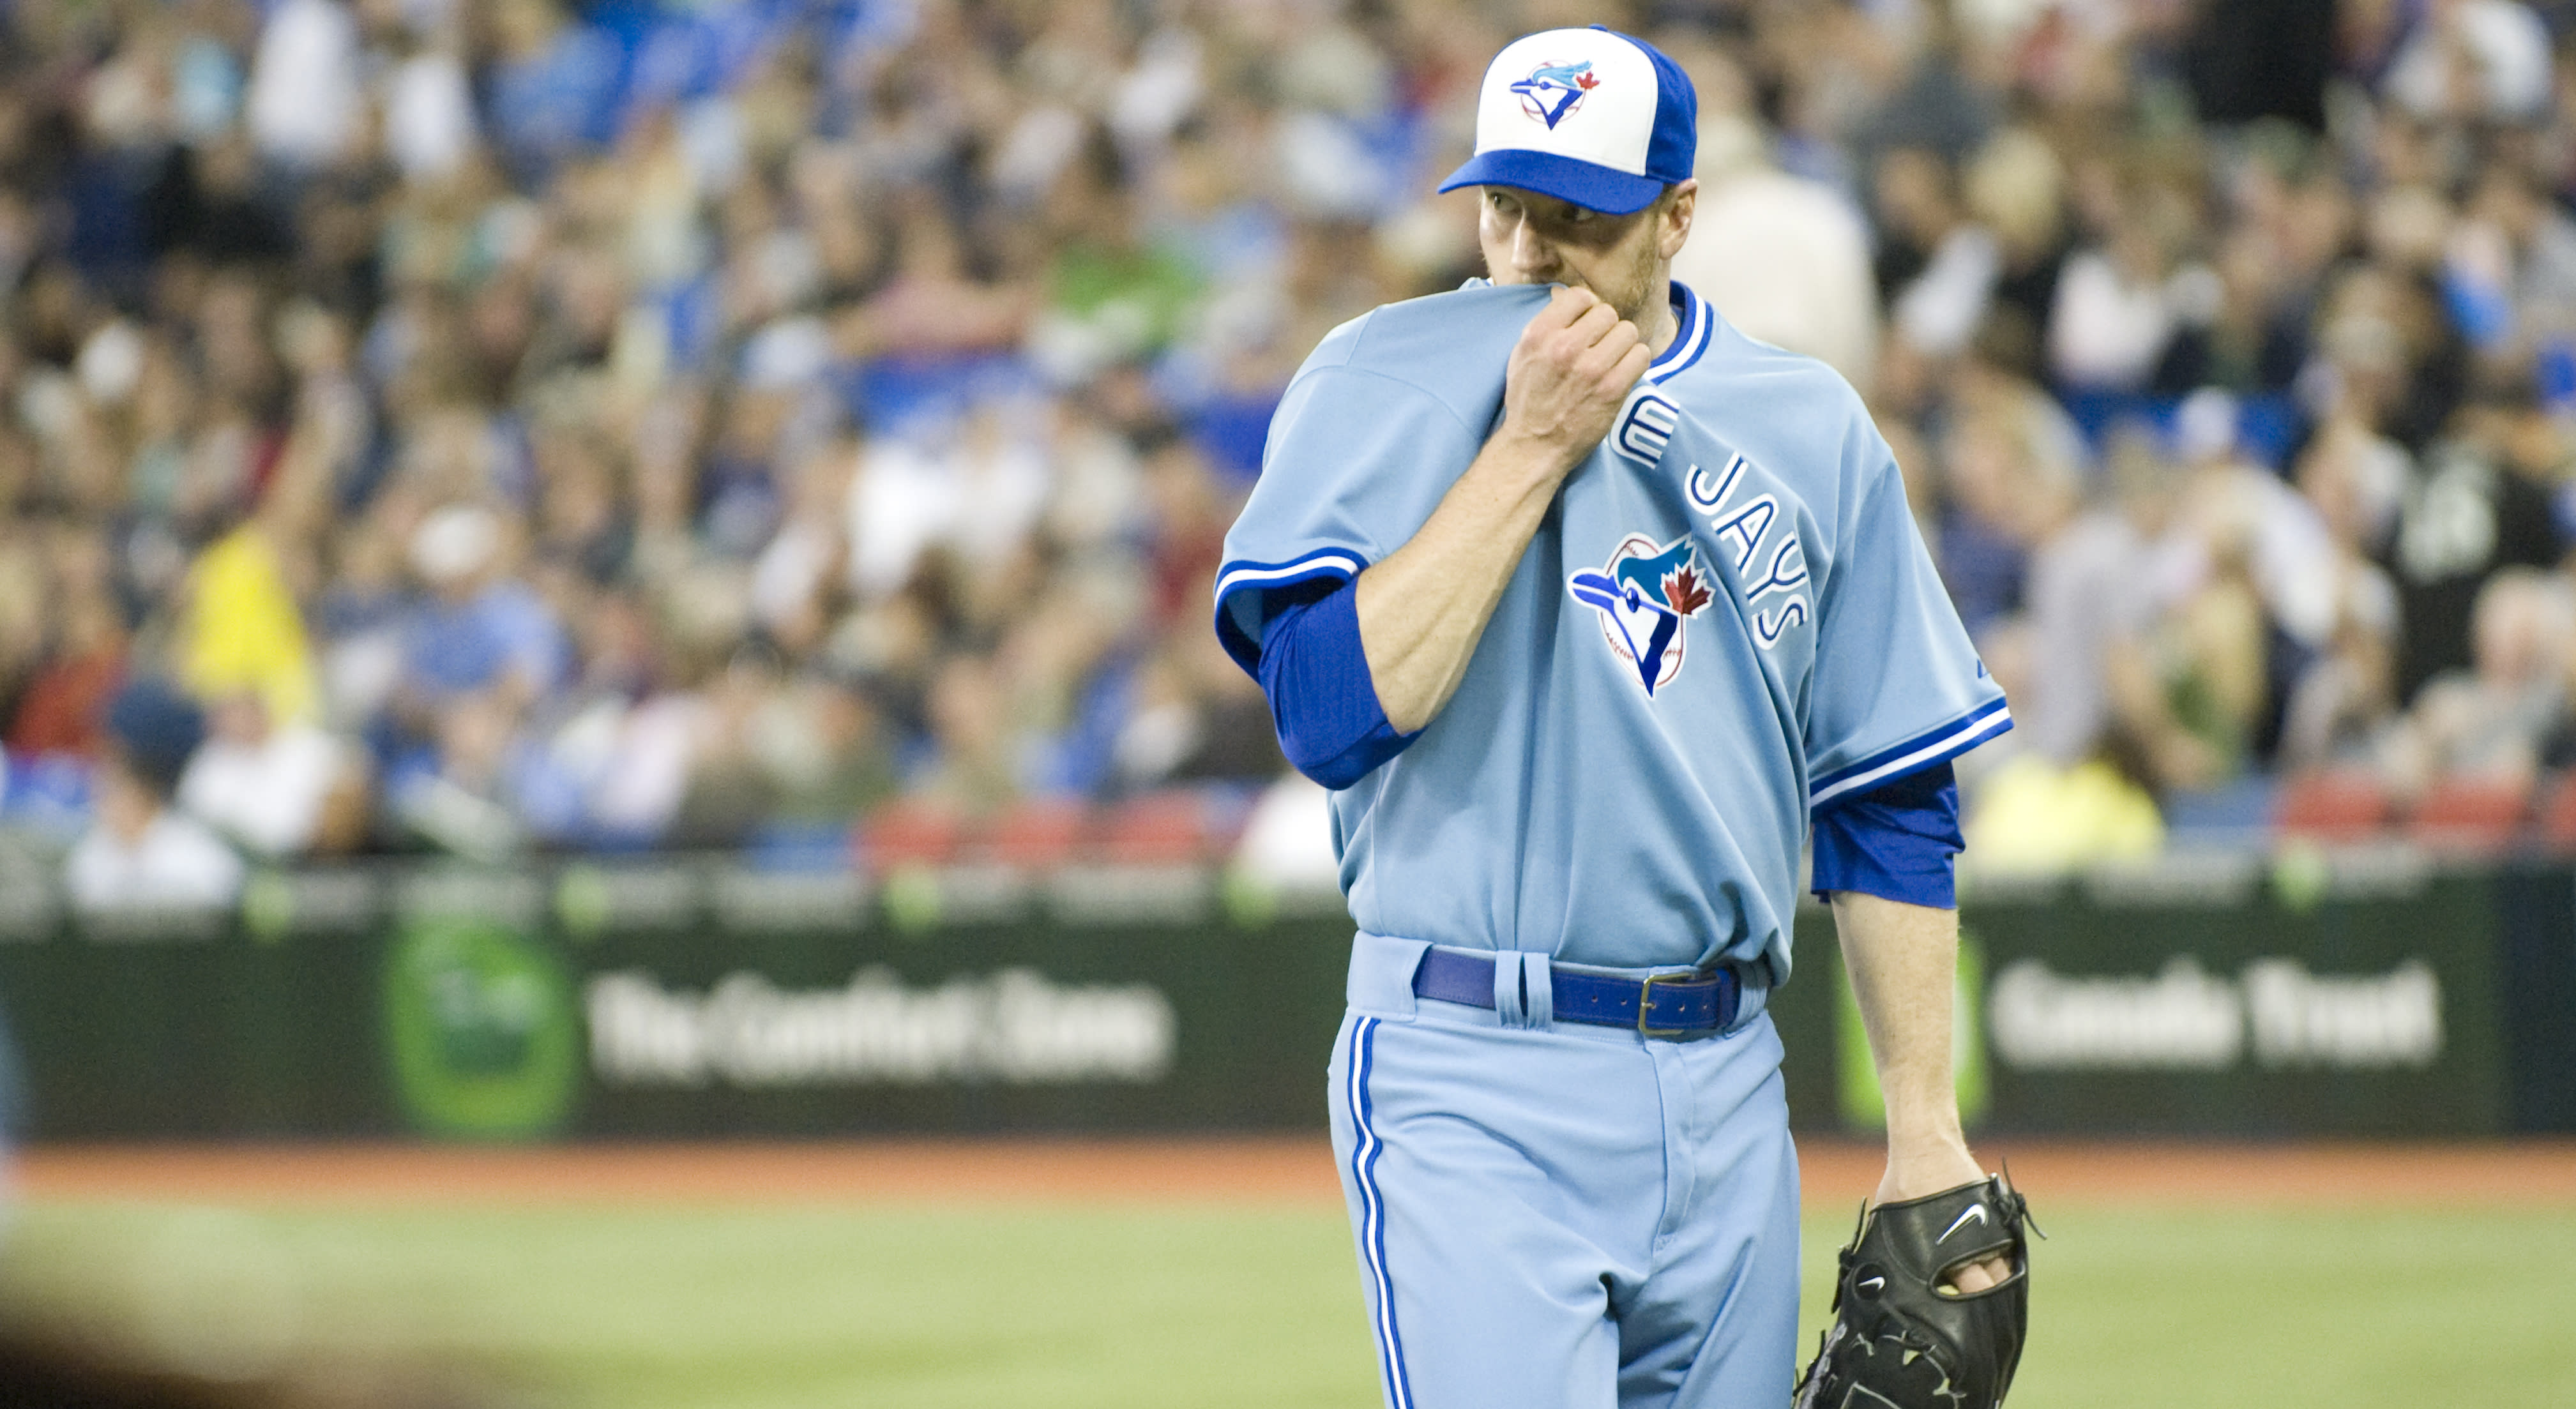
<svg viewBox="0 0 2576 1409">
<path fill-rule="evenodd" d="M 1695 180 L 1667 191 L 1656 203 L 1625 216 L 1589 211 L 1556 196 L 1486 185 L 1476 219 L 1484 268 L 1494 283 L 1564 283 L 1589 288 L 1618 317 L 1636 322 L 1664 307 L 1672 255 L 1690 237 Z"/>
</svg>

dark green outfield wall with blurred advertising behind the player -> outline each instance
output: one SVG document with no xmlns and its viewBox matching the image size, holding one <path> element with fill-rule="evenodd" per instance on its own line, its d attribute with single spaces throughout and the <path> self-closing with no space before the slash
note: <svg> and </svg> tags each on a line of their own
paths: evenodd
<svg viewBox="0 0 2576 1409">
<path fill-rule="evenodd" d="M 2411 850 L 1971 881 L 1963 1100 L 2032 1133 L 2576 1128 L 2576 868 Z M 1319 1128 L 1347 922 L 1195 868 L 325 868 L 237 912 L 0 896 L 33 1139 Z M 1772 997 L 1875 1113 L 1832 922 Z"/>
</svg>

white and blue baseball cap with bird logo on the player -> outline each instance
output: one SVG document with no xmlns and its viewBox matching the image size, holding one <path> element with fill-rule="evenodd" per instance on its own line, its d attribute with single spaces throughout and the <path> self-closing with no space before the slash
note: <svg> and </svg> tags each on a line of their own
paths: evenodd
<svg viewBox="0 0 2576 1409">
<path fill-rule="evenodd" d="M 1700 98 L 1654 44 L 1548 28 L 1494 54 L 1476 93 L 1476 155 L 1440 191 L 1517 185 L 1623 216 L 1690 180 Z"/>
</svg>

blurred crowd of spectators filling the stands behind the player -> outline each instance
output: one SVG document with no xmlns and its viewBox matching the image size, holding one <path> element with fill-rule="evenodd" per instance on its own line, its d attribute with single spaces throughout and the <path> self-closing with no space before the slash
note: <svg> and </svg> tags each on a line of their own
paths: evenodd
<svg viewBox="0 0 2576 1409">
<path fill-rule="evenodd" d="M 1481 273 L 1484 64 L 1592 21 L 1698 82 L 1677 276 L 1899 451 L 1981 855 L 2576 762 L 2576 5 L 15 0 L 0 824 L 90 896 L 1239 827 L 1270 410 Z"/>
</svg>

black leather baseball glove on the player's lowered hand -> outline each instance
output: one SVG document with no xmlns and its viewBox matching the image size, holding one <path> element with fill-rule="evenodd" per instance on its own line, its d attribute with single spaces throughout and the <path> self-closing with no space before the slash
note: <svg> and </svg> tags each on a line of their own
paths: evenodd
<svg viewBox="0 0 2576 1409">
<path fill-rule="evenodd" d="M 2004 1175 L 1862 1206 L 1860 1231 L 1842 1249 L 1834 1324 L 1798 1381 L 1795 1409 L 2002 1404 L 2030 1324 L 2027 1218 L 2030 1206 Z M 2004 1257 L 2012 1275 L 1978 1293 L 1940 1291 L 1942 1275 L 1986 1257 Z"/>
</svg>

